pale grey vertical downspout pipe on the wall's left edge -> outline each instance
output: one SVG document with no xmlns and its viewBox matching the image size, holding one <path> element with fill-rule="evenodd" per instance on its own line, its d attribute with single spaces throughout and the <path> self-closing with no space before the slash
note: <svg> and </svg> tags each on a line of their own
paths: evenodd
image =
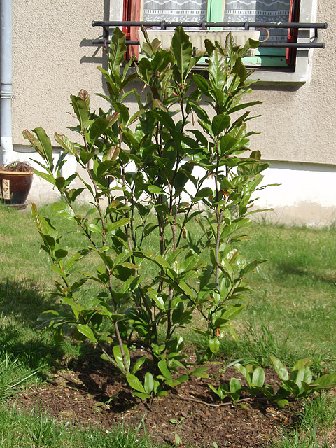
<svg viewBox="0 0 336 448">
<path fill-rule="evenodd" d="M 1 0 L 0 165 L 13 162 L 12 141 L 12 0 Z"/>
</svg>

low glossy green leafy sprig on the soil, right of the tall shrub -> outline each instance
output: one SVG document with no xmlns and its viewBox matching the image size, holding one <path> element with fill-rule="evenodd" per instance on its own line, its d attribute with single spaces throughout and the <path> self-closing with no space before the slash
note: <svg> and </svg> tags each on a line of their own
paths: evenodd
<svg viewBox="0 0 336 448">
<path fill-rule="evenodd" d="M 275 356 L 271 356 L 271 360 L 281 381 L 281 384 L 278 384 L 279 389 L 276 393 L 274 393 L 272 386 L 265 384 L 265 370 L 262 367 L 255 367 L 251 364 L 235 364 L 235 369 L 246 380 L 247 387 L 241 386 L 241 381 L 237 378 L 231 378 L 229 386 L 225 383 L 221 383 L 218 388 L 214 388 L 209 383 L 208 386 L 222 401 L 225 398 L 229 398 L 237 403 L 240 400 L 241 391 L 246 391 L 252 396 L 257 394 L 265 395 L 265 397 L 276 402 L 280 407 L 288 405 L 287 398 L 290 396 L 297 400 L 298 398 L 306 398 L 313 392 L 336 386 L 336 373 L 325 374 L 312 381 L 313 374 L 309 368 L 311 365 L 311 360 L 309 359 L 298 360 L 290 374 L 286 366 L 281 363 L 281 360 Z"/>
</svg>

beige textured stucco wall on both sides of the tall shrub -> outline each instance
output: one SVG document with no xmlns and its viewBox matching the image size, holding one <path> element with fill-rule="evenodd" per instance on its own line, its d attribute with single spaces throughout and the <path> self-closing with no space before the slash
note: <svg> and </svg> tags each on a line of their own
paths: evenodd
<svg viewBox="0 0 336 448">
<path fill-rule="evenodd" d="M 316 0 L 301 1 L 304 2 L 314 5 Z M 106 102 L 94 95 L 104 92 L 97 66 L 104 66 L 106 59 L 102 48 L 91 44 L 92 38 L 101 33 L 91 22 L 120 20 L 122 3 L 122 0 L 13 0 L 13 144 L 16 151 L 29 151 L 22 137 L 25 128 L 32 130 L 41 126 L 50 136 L 57 131 L 71 137 L 66 126 L 76 125 L 76 120 L 67 114 L 71 111 L 70 94 L 78 94 L 81 88 L 90 92 L 94 109 L 106 108 Z M 330 167 L 329 171 L 336 176 L 336 2 L 318 0 L 317 17 L 309 14 L 306 11 L 301 20 L 328 22 L 328 29 L 319 31 L 319 41 L 325 42 L 326 48 L 314 53 L 309 50 L 308 69 L 304 73 L 306 83 L 260 83 L 253 88 L 248 101 L 259 99 L 263 104 L 253 111 L 261 113 L 262 118 L 251 122 L 251 127 L 262 134 L 253 137 L 252 146 L 260 149 L 265 160 L 285 165 L 308 163 L 309 167 L 315 166 L 315 171 L 318 165 L 323 169 Z M 293 163 L 288 165 L 288 169 L 295 179 L 293 166 Z M 310 168 L 306 171 L 309 176 Z M 318 179 L 321 181 L 323 176 Z M 34 185 L 39 191 L 33 190 L 32 194 L 41 196 L 40 183 Z M 328 190 L 327 184 L 320 188 L 321 194 L 325 191 L 330 196 L 328 207 L 330 216 L 334 216 L 336 193 Z M 272 192 L 269 195 L 270 199 L 265 201 L 272 207 Z M 297 198 L 295 207 L 304 203 L 309 203 L 309 191 L 306 197 Z M 321 203 L 320 206 L 326 207 Z M 286 204 L 278 207 L 286 208 Z M 293 205 L 288 202 L 288 207 Z"/>
</svg>

